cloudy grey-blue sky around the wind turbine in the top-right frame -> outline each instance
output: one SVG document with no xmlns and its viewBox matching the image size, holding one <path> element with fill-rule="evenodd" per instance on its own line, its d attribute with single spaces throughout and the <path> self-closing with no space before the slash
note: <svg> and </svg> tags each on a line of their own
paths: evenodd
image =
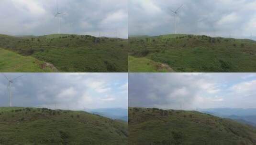
<svg viewBox="0 0 256 145">
<path fill-rule="evenodd" d="M 256 0 L 130 0 L 129 34 L 175 32 L 172 10 L 178 10 L 177 31 L 247 38 L 256 36 Z"/>
</svg>

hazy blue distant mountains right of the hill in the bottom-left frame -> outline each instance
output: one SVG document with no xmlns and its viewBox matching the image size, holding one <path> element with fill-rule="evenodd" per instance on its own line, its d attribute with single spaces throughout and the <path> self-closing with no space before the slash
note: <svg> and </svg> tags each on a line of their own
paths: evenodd
<svg viewBox="0 0 256 145">
<path fill-rule="evenodd" d="M 122 120 L 128 122 L 128 109 L 124 108 L 101 108 L 101 109 L 85 109 L 85 111 L 109 117 L 111 119 Z"/>
</svg>

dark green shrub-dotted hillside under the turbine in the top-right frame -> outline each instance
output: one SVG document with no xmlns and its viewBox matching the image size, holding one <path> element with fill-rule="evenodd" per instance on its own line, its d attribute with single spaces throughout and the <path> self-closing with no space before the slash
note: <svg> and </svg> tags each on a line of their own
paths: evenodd
<svg viewBox="0 0 256 145">
<path fill-rule="evenodd" d="M 130 37 L 129 46 L 129 55 L 137 58 L 129 59 L 129 72 L 146 72 L 152 63 L 166 64 L 175 72 L 256 72 L 252 40 L 170 34 Z"/>
</svg>

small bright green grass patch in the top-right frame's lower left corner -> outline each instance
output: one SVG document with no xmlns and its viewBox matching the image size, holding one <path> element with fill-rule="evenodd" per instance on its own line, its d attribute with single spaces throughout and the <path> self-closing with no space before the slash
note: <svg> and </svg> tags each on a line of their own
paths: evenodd
<svg viewBox="0 0 256 145">
<path fill-rule="evenodd" d="M 167 73 L 166 68 L 160 68 L 160 64 L 145 57 L 128 56 L 128 70 L 133 73 L 149 72 L 149 73 Z"/>
</svg>

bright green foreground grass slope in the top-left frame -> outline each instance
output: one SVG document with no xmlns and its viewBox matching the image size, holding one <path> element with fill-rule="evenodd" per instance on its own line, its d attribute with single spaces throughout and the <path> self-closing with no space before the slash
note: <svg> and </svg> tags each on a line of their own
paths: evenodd
<svg viewBox="0 0 256 145">
<path fill-rule="evenodd" d="M 43 69 L 43 64 L 31 56 L 0 49 L 0 72 L 54 72 L 49 67 Z"/>
</svg>

